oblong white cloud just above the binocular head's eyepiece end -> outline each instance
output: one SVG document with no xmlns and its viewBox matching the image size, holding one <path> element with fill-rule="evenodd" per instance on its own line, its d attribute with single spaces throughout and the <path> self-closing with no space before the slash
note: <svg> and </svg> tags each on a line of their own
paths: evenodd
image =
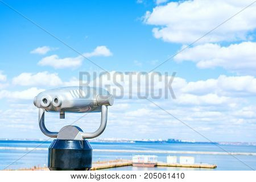
<svg viewBox="0 0 256 182">
<path fill-rule="evenodd" d="M 21 73 L 13 78 L 13 84 L 22 86 L 58 86 L 62 84 L 62 81 L 57 73 Z"/>
</svg>

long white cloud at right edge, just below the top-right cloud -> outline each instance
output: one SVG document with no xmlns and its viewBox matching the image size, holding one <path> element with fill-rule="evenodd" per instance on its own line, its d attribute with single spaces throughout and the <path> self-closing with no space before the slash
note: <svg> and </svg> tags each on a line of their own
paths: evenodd
<svg viewBox="0 0 256 182">
<path fill-rule="evenodd" d="M 255 50 L 255 42 L 230 44 L 228 47 L 208 43 L 185 49 L 174 60 L 193 61 L 199 68 L 222 67 L 229 71 L 255 74 Z"/>
</svg>

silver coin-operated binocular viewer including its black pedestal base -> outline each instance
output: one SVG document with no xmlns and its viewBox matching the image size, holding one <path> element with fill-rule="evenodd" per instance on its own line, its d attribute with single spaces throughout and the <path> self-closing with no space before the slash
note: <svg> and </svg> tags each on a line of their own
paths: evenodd
<svg viewBox="0 0 256 182">
<path fill-rule="evenodd" d="M 46 90 L 34 99 L 39 108 L 39 127 L 44 135 L 53 140 L 48 149 L 48 167 L 50 170 L 90 170 L 92 168 L 92 147 L 85 139 L 98 137 L 107 123 L 108 106 L 114 98 L 101 88 L 65 87 Z M 65 118 L 66 112 L 101 112 L 101 124 L 93 133 L 85 133 L 77 126 L 64 126 L 59 132 L 47 130 L 44 125 L 45 111 L 58 112 Z"/>
</svg>

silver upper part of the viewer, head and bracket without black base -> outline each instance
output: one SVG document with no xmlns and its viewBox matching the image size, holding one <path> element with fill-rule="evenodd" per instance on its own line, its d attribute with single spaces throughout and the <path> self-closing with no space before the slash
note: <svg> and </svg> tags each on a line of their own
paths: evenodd
<svg viewBox="0 0 256 182">
<path fill-rule="evenodd" d="M 57 139 L 82 140 L 96 138 L 101 135 L 108 120 L 108 106 L 112 106 L 114 98 L 108 91 L 101 88 L 65 87 L 46 90 L 34 99 L 34 105 L 39 108 L 39 127 L 44 135 Z M 90 113 L 101 111 L 101 124 L 93 133 L 84 133 L 77 126 L 65 126 L 60 132 L 51 132 L 44 125 L 45 111 L 60 113 L 65 118 L 65 112 Z"/>
</svg>

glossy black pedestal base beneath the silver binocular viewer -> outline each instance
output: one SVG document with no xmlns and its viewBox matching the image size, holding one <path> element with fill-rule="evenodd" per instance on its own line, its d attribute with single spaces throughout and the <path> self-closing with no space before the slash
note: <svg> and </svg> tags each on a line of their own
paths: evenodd
<svg viewBox="0 0 256 182">
<path fill-rule="evenodd" d="M 92 168 L 92 147 L 87 140 L 53 140 L 48 149 L 51 171 L 88 171 Z"/>
</svg>

